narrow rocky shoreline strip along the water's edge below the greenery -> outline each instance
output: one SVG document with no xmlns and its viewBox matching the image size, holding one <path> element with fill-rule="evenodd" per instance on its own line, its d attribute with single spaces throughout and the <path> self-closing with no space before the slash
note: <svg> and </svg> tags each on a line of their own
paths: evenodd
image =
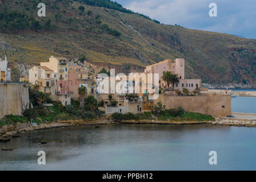
<svg viewBox="0 0 256 182">
<path fill-rule="evenodd" d="M 22 126 L 23 124 L 23 126 Z M 33 126 L 30 123 L 18 123 L 15 126 L 9 125 L 7 131 L 2 131 L 1 139 L 3 135 L 10 137 L 19 137 L 20 134 L 27 133 L 30 131 L 37 130 L 47 130 L 47 129 L 57 129 L 60 127 L 80 127 L 80 126 L 95 126 L 99 127 L 101 125 L 116 125 L 116 124 L 150 124 L 150 125 L 173 125 L 173 126 L 186 126 L 186 125 L 213 125 L 213 126 L 237 126 L 237 127 L 256 127 L 256 121 L 251 121 L 247 119 L 235 119 L 235 118 L 216 118 L 216 121 L 154 121 L 154 120 L 142 120 L 142 121 L 113 121 L 109 119 L 97 119 L 90 121 L 83 120 L 67 120 L 67 121 L 57 121 L 51 123 L 41 123 L 38 126 Z M 3 142 L 4 140 L 2 140 Z"/>
</svg>

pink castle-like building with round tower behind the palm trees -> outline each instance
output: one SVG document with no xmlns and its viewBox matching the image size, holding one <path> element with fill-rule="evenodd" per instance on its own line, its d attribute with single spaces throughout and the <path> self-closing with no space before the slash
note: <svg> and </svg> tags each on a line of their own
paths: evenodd
<svg viewBox="0 0 256 182">
<path fill-rule="evenodd" d="M 185 79 L 185 59 L 164 60 L 160 63 L 149 65 L 145 69 L 145 73 L 158 73 L 159 74 L 159 87 L 166 88 L 166 82 L 162 80 L 163 72 L 170 71 L 177 74 L 180 78 L 179 84 L 174 85 L 175 90 L 183 88 L 188 89 L 190 92 L 194 89 L 201 88 L 201 79 Z"/>
</svg>

